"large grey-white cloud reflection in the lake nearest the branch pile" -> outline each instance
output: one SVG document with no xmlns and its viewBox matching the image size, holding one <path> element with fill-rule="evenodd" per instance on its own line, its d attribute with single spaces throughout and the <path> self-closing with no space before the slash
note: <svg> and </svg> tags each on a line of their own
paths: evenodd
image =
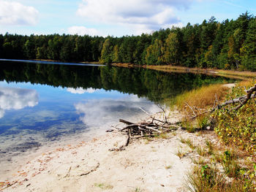
<svg viewBox="0 0 256 192">
<path fill-rule="evenodd" d="M 122 99 L 91 99 L 75 104 L 80 120 L 90 127 L 110 126 L 119 118 L 131 118 L 142 115 L 140 107 L 149 112 L 157 112 L 157 106 L 146 99 L 129 95 Z"/>
</svg>

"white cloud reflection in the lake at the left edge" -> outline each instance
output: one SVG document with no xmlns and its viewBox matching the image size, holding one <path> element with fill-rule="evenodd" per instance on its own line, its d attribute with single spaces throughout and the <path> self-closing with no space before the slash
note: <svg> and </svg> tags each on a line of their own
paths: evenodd
<svg viewBox="0 0 256 192">
<path fill-rule="evenodd" d="M 38 104 L 37 91 L 24 88 L 0 87 L 0 118 L 5 110 L 20 110 Z"/>
</svg>

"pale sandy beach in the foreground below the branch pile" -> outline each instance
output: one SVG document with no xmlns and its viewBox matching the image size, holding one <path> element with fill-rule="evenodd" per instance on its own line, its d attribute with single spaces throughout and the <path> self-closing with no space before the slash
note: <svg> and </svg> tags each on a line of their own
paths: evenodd
<svg viewBox="0 0 256 192">
<path fill-rule="evenodd" d="M 177 114 L 170 120 L 177 120 Z M 187 191 L 187 172 L 197 153 L 180 138 L 200 145 L 207 137 L 212 140 L 208 133 L 196 136 L 177 130 L 165 139 L 132 140 L 118 151 L 113 149 L 124 145 L 127 136 L 113 131 L 42 153 L 1 181 L 1 191 Z"/>
</svg>

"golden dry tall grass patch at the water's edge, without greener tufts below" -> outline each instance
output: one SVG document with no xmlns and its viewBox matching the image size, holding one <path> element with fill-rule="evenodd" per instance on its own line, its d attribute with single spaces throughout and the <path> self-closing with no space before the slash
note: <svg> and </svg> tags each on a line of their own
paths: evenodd
<svg viewBox="0 0 256 192">
<path fill-rule="evenodd" d="M 221 84 L 206 85 L 177 96 L 176 106 L 180 110 L 184 109 L 184 107 L 187 107 L 187 104 L 189 104 L 191 107 L 197 107 L 200 109 L 213 107 L 216 97 L 218 101 L 221 101 L 225 96 L 225 93 L 227 93 L 228 89 L 229 88 Z"/>
</svg>

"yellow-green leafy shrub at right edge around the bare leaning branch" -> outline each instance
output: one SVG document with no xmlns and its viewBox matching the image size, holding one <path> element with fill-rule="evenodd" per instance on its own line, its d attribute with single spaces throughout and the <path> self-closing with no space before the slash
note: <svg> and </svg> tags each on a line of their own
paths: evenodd
<svg viewBox="0 0 256 192">
<path fill-rule="evenodd" d="M 252 87 L 254 82 L 247 85 Z M 245 94 L 244 87 L 236 86 L 227 95 L 227 99 L 235 99 Z M 256 152 L 256 104 L 255 101 L 248 101 L 239 110 L 231 110 L 232 107 L 224 107 L 214 113 L 217 120 L 215 131 L 226 144 L 240 146 L 249 152 Z"/>
</svg>

